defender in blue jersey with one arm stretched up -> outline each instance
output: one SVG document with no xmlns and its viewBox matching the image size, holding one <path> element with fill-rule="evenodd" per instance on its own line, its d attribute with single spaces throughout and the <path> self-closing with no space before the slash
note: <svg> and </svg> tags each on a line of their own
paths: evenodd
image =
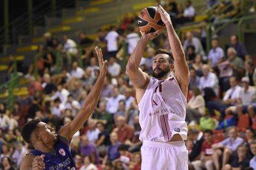
<svg viewBox="0 0 256 170">
<path fill-rule="evenodd" d="M 70 142 L 90 114 L 100 98 L 101 88 L 107 72 L 107 61 L 103 61 L 101 49 L 95 48 L 100 66 L 100 76 L 86 97 L 83 107 L 76 117 L 63 126 L 58 134 L 40 119 L 28 121 L 22 129 L 22 137 L 36 149 L 24 157 L 21 170 L 36 169 L 75 169 L 70 152 Z"/>
</svg>

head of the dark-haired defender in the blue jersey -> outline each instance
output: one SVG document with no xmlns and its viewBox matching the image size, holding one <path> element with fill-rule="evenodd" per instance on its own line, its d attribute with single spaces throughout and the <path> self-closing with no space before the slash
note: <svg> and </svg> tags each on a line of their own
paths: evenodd
<svg viewBox="0 0 256 170">
<path fill-rule="evenodd" d="M 48 124 L 41 122 L 41 119 L 31 119 L 22 128 L 22 137 L 27 142 L 35 146 L 36 144 L 47 144 L 55 142 L 57 134 Z"/>
</svg>

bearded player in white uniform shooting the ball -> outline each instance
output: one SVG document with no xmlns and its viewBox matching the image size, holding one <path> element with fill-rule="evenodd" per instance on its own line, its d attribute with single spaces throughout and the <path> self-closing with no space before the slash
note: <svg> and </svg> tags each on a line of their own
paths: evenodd
<svg viewBox="0 0 256 170">
<path fill-rule="evenodd" d="M 173 56 L 167 50 L 157 50 L 152 64 L 153 77 L 142 72 L 139 65 L 144 49 L 160 31 L 141 32 L 142 37 L 126 66 L 139 103 L 141 169 L 188 169 L 184 140 L 188 131 L 185 116 L 189 68 L 169 14 L 161 6 L 157 10 L 166 26 Z"/>
</svg>

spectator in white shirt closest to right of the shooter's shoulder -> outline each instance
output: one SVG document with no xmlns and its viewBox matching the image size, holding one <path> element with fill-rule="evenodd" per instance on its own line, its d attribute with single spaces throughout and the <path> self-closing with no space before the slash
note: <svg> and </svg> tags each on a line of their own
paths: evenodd
<svg viewBox="0 0 256 170">
<path fill-rule="evenodd" d="M 203 76 L 200 77 L 199 88 L 204 89 L 210 87 L 214 90 L 215 94 L 218 94 L 219 80 L 218 77 L 210 72 L 210 67 L 204 64 L 202 67 Z"/>
</svg>

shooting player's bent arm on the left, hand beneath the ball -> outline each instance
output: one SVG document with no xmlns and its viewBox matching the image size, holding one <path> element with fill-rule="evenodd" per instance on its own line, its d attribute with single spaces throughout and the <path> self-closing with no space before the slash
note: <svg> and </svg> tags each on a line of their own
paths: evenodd
<svg viewBox="0 0 256 170">
<path fill-rule="evenodd" d="M 148 34 L 141 32 L 140 41 L 138 42 L 128 60 L 126 71 L 136 89 L 145 89 L 150 81 L 149 75 L 147 75 L 145 72 L 142 72 L 139 66 L 147 44 L 151 39 L 154 39 L 156 36 L 158 36 L 159 32 L 160 31 L 156 31 Z"/>
</svg>

